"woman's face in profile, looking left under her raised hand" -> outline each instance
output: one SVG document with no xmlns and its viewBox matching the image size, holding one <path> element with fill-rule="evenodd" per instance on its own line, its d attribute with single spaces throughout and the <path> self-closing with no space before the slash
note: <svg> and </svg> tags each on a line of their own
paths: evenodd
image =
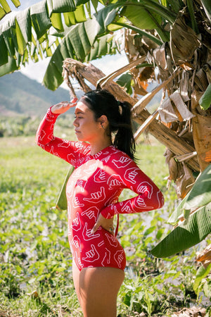
<svg viewBox="0 0 211 317">
<path fill-rule="evenodd" d="M 89 109 L 87 104 L 82 101 L 75 107 L 75 134 L 79 141 L 94 143 L 102 133 L 101 121 L 95 120 L 94 112 Z"/>
</svg>

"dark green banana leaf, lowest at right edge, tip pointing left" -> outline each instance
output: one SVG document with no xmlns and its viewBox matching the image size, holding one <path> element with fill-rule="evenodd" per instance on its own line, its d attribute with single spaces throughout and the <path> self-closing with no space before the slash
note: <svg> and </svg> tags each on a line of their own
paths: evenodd
<svg viewBox="0 0 211 317">
<path fill-rule="evenodd" d="M 166 258 L 203 241 L 211 232 L 211 203 L 191 214 L 186 225 L 178 225 L 152 250 L 153 256 Z"/>
</svg>

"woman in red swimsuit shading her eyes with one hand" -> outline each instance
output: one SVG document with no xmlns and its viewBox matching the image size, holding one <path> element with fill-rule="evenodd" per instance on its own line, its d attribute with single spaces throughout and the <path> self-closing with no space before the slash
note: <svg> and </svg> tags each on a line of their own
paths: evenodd
<svg viewBox="0 0 211 317">
<path fill-rule="evenodd" d="M 77 142 L 53 136 L 60 113 L 75 106 Z M 76 104 L 49 108 L 37 144 L 75 166 L 68 180 L 68 240 L 72 275 L 84 317 L 115 317 L 124 280 L 124 250 L 114 235 L 113 216 L 161 208 L 162 193 L 134 163 L 131 107 L 106 90 L 84 94 Z M 112 133 L 115 132 L 115 137 Z M 124 188 L 136 197 L 118 202 Z"/>
</svg>

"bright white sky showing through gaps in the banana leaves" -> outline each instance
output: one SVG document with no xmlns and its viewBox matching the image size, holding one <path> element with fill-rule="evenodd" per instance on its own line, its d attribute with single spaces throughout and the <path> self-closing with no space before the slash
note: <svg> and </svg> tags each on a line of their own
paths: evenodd
<svg viewBox="0 0 211 317">
<path fill-rule="evenodd" d="M 8 4 L 10 5 L 12 12 L 8 13 L 8 15 L 6 15 L 3 18 L 1 20 L 1 23 L 4 23 L 6 19 L 9 18 L 11 15 L 15 14 L 16 11 L 23 11 L 25 8 L 32 6 L 33 4 L 36 4 L 39 1 L 40 0 L 20 0 L 21 6 L 18 8 L 15 8 L 15 6 L 13 6 L 12 1 L 8 1 Z M 101 71 L 103 71 L 103 73 L 109 75 L 110 73 L 113 73 L 115 70 L 126 65 L 128 61 L 125 54 L 122 53 L 113 56 L 104 56 L 103 58 L 99 58 L 96 61 L 91 61 L 91 63 L 97 68 L 99 68 Z M 32 61 L 30 61 L 29 64 L 26 64 L 25 67 L 21 66 L 20 72 L 33 80 L 42 82 L 47 66 L 47 58 L 44 58 L 43 60 L 40 60 L 37 63 L 33 63 Z M 68 89 L 65 83 L 63 83 L 60 87 Z"/>
</svg>

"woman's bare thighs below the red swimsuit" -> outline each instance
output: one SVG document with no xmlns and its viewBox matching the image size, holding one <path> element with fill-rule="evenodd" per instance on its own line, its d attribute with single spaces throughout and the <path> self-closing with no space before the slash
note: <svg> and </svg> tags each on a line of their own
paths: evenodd
<svg viewBox="0 0 211 317">
<path fill-rule="evenodd" d="M 83 268 L 73 265 L 73 280 L 84 317 L 116 317 L 117 294 L 124 280 L 119 268 Z"/>
</svg>

